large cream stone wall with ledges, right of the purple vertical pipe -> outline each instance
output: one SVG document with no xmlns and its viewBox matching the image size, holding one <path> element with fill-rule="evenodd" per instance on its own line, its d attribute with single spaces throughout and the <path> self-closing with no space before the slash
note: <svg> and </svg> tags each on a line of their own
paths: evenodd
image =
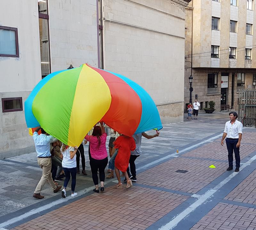
<svg viewBox="0 0 256 230">
<path fill-rule="evenodd" d="M 182 121 L 182 109 L 177 108 L 183 107 L 184 96 L 185 2 L 102 4 L 104 69 L 140 84 L 155 101 L 163 123 Z"/>
</svg>

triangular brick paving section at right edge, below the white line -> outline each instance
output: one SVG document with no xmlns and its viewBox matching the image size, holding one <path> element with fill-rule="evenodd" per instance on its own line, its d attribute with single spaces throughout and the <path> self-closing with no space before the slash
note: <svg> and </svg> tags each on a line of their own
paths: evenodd
<svg viewBox="0 0 256 230">
<path fill-rule="evenodd" d="M 236 186 L 224 199 L 256 204 L 256 170 Z"/>
</svg>

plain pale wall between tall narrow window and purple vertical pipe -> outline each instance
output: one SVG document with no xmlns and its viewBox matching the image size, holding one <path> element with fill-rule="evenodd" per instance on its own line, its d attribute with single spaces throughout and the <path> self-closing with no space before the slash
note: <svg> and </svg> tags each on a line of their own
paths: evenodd
<svg viewBox="0 0 256 230">
<path fill-rule="evenodd" d="M 88 63 L 98 67 L 95 0 L 50 0 L 52 72 Z"/>
</svg>

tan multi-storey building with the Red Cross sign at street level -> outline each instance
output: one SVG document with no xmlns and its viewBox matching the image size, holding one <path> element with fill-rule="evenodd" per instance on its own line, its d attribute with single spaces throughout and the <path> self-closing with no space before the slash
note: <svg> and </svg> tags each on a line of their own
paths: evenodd
<svg viewBox="0 0 256 230">
<path fill-rule="evenodd" d="M 256 84 L 256 15 L 252 0 L 192 0 L 186 7 L 184 111 L 192 102 L 238 109 L 238 91 Z M 255 23 L 254 23 L 255 22 Z M 192 70 L 191 70 L 192 66 Z"/>
</svg>

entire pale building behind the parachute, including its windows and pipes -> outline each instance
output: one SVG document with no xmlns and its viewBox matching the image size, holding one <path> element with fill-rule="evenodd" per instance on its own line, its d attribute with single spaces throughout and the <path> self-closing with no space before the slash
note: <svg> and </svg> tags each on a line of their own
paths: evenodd
<svg viewBox="0 0 256 230">
<path fill-rule="evenodd" d="M 0 159 L 35 150 L 24 102 L 42 78 L 70 65 L 123 74 L 148 91 L 163 123 L 182 121 L 188 2 L 13 0 L 1 7 Z"/>
</svg>

